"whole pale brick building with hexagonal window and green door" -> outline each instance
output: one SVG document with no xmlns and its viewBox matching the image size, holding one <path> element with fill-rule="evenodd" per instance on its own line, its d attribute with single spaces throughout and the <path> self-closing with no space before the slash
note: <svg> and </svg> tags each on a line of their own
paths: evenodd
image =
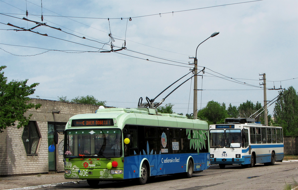
<svg viewBox="0 0 298 190">
<path fill-rule="evenodd" d="M 70 117 L 76 114 L 95 113 L 98 106 L 70 102 L 31 98 L 40 109 L 27 111 L 32 114 L 30 123 L 24 128 L 7 127 L 0 134 L 0 175 L 27 175 L 61 172 L 64 170 L 62 146 L 55 145 L 49 152 L 54 130 L 64 130 Z M 59 135 L 59 142 L 63 135 Z"/>
</svg>

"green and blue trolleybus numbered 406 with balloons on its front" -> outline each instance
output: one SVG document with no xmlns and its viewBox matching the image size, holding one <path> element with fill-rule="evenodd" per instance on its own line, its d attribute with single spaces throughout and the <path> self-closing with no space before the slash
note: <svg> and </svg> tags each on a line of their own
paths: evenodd
<svg viewBox="0 0 298 190">
<path fill-rule="evenodd" d="M 107 108 L 71 117 L 64 132 L 66 179 L 103 180 L 193 173 L 209 167 L 206 121 L 151 108 Z M 56 135 L 58 136 L 58 135 Z"/>
</svg>

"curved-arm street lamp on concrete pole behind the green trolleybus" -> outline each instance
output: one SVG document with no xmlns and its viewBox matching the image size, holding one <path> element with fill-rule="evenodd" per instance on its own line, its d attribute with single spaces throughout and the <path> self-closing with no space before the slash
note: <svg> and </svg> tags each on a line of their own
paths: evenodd
<svg viewBox="0 0 298 190">
<path fill-rule="evenodd" d="M 211 34 L 210 37 L 214 37 L 216 36 L 217 34 L 219 34 L 219 32 L 214 32 L 213 34 Z M 206 40 L 208 40 L 210 37 L 208 37 Z M 204 40 L 204 41 L 206 41 Z M 204 42 L 203 41 L 203 42 Z M 202 42 L 202 43 L 203 43 Z M 201 45 L 202 43 L 200 43 L 199 45 Z M 199 47 L 198 45 L 198 47 Z M 195 73 L 194 73 L 194 87 L 193 87 L 193 119 L 197 119 L 198 117 L 198 81 L 197 81 L 197 74 L 198 74 L 198 59 L 197 59 L 197 50 L 198 50 L 198 47 L 197 49 L 195 50 L 195 62 L 194 62 L 194 70 L 195 70 Z"/>
</svg>

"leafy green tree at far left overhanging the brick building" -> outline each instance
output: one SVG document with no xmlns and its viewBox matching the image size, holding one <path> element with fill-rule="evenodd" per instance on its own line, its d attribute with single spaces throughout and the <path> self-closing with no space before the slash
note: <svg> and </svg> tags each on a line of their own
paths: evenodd
<svg viewBox="0 0 298 190">
<path fill-rule="evenodd" d="M 2 71 L 6 66 L 1 66 Z M 29 114 L 28 117 L 24 116 L 24 113 L 28 109 L 41 107 L 41 104 L 29 103 L 31 100 L 29 95 L 34 94 L 35 89 L 39 83 L 31 84 L 27 86 L 27 81 L 15 81 L 7 83 L 7 77 L 4 77 L 4 72 L 0 72 L 0 133 L 3 129 L 10 126 L 15 126 L 15 122 L 18 122 L 17 128 L 28 125 L 28 122 L 32 116 Z"/>
</svg>

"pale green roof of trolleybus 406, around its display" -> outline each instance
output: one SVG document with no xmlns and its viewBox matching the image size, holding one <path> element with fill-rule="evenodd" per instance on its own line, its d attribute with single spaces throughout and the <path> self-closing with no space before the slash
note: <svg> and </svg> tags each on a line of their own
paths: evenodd
<svg viewBox="0 0 298 190">
<path fill-rule="evenodd" d="M 92 114 L 78 114 L 69 119 L 66 129 L 86 128 L 72 127 L 72 120 L 80 119 L 113 119 L 114 126 L 105 126 L 105 128 L 123 128 L 125 125 L 144 125 L 144 126 L 159 126 L 159 127 L 177 127 L 208 130 L 207 121 L 191 120 L 186 116 L 179 114 L 162 114 L 157 113 L 155 109 L 148 108 L 106 108 L 98 109 Z M 92 128 L 103 128 L 102 126 Z"/>
</svg>

